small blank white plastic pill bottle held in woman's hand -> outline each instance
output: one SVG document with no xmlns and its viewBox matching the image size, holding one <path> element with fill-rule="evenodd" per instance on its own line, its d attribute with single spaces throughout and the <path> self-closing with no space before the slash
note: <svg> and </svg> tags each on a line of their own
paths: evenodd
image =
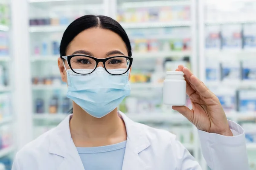
<svg viewBox="0 0 256 170">
<path fill-rule="evenodd" d="M 186 105 L 186 80 L 182 71 L 167 71 L 163 82 L 163 103 L 172 106 Z"/>
</svg>

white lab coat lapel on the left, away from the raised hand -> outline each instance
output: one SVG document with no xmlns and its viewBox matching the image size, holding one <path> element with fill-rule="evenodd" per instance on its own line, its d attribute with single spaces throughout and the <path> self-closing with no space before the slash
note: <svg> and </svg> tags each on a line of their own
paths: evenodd
<svg viewBox="0 0 256 170">
<path fill-rule="evenodd" d="M 69 121 L 67 116 L 51 133 L 49 153 L 63 157 L 58 170 L 84 170 L 76 146 L 71 138 Z"/>
</svg>

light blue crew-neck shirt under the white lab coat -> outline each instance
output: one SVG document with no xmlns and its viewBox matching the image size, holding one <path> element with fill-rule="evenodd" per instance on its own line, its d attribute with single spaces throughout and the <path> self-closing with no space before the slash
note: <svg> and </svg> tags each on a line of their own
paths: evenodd
<svg viewBox="0 0 256 170">
<path fill-rule="evenodd" d="M 76 147 L 84 170 L 122 170 L 126 141 L 101 147 Z"/>
</svg>

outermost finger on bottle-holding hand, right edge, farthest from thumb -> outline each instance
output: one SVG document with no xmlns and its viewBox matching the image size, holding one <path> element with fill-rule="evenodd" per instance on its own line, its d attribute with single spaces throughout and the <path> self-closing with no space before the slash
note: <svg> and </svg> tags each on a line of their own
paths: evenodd
<svg viewBox="0 0 256 170">
<path fill-rule="evenodd" d="M 206 98 L 212 97 L 213 95 L 212 92 L 197 77 L 192 75 L 190 79 L 191 79 L 191 84 L 195 86 L 196 91 L 198 91 L 203 97 L 206 97 Z"/>
</svg>

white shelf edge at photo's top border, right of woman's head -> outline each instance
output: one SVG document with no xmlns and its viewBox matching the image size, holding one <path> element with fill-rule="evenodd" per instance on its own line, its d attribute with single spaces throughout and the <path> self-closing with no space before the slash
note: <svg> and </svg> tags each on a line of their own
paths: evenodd
<svg viewBox="0 0 256 170">
<path fill-rule="evenodd" d="M 146 1 L 146 2 L 128 2 L 122 3 L 121 8 L 145 8 L 161 6 L 185 6 L 190 5 L 190 0 L 172 0 L 172 1 Z"/>
</svg>

